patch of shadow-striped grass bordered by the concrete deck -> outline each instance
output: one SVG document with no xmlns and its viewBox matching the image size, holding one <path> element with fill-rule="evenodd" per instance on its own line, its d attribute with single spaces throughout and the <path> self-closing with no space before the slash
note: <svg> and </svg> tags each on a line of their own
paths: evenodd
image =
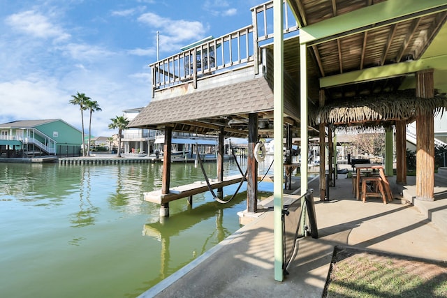
<svg viewBox="0 0 447 298">
<path fill-rule="evenodd" d="M 447 297 L 447 265 L 336 248 L 323 297 Z"/>
</svg>

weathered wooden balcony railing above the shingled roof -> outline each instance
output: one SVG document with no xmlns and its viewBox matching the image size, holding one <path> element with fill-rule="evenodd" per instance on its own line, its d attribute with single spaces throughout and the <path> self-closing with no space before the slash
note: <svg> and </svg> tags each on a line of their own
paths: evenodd
<svg viewBox="0 0 447 298">
<path fill-rule="evenodd" d="M 258 48 L 261 42 L 273 37 L 273 1 L 251 8 L 252 25 L 219 38 L 184 48 L 179 54 L 150 64 L 152 96 L 159 89 L 197 81 L 210 75 L 234 70 L 236 66 L 254 65 L 258 73 Z M 284 0 L 284 34 L 298 34 L 298 25 Z M 256 63 L 255 63 L 256 62 Z"/>
</svg>

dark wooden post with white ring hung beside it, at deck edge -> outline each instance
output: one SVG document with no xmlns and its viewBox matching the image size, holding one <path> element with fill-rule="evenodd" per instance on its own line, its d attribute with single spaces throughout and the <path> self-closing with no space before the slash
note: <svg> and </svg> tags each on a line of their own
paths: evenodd
<svg viewBox="0 0 447 298">
<path fill-rule="evenodd" d="M 256 212 L 258 202 L 258 162 L 254 147 L 258 142 L 258 114 L 249 114 L 249 146 L 247 159 L 247 211 Z"/>
</svg>

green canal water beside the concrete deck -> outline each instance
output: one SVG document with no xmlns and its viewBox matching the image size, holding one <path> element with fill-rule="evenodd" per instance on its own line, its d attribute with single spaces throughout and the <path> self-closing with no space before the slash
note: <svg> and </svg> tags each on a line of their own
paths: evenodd
<svg viewBox="0 0 447 298">
<path fill-rule="evenodd" d="M 204 166 L 215 178 L 216 164 Z M 136 297 L 241 227 L 245 184 L 228 204 L 209 192 L 192 208 L 171 202 L 160 221 L 143 193 L 161 188 L 162 167 L 0 163 L 0 297 Z M 239 170 L 228 161 L 224 172 Z M 172 165 L 171 186 L 193 181 L 203 181 L 200 167 Z M 268 196 L 272 184 L 259 191 Z"/>
</svg>

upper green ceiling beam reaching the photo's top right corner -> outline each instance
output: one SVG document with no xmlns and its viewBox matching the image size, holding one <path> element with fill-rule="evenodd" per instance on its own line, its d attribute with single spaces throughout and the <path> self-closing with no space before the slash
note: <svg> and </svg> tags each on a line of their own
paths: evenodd
<svg viewBox="0 0 447 298">
<path fill-rule="evenodd" d="M 303 27 L 300 29 L 300 43 L 307 45 L 324 43 L 447 10 L 445 0 L 405 0 L 405 4 L 402 2 L 402 0 L 383 1 Z"/>
</svg>

